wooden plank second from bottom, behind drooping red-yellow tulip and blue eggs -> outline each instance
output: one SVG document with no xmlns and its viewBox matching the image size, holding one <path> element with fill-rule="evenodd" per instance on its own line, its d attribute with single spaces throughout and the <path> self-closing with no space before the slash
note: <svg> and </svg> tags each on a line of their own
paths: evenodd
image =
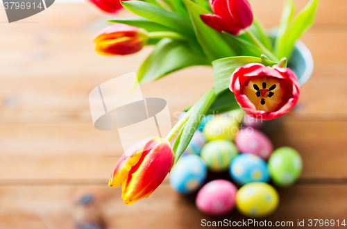
<svg viewBox="0 0 347 229">
<path fill-rule="evenodd" d="M 301 178 L 347 178 L 346 129 L 346 121 L 285 119 L 271 139 L 301 153 Z M 116 131 L 90 123 L 0 126 L 0 146 L 0 180 L 107 182 L 123 153 Z"/>
</svg>

